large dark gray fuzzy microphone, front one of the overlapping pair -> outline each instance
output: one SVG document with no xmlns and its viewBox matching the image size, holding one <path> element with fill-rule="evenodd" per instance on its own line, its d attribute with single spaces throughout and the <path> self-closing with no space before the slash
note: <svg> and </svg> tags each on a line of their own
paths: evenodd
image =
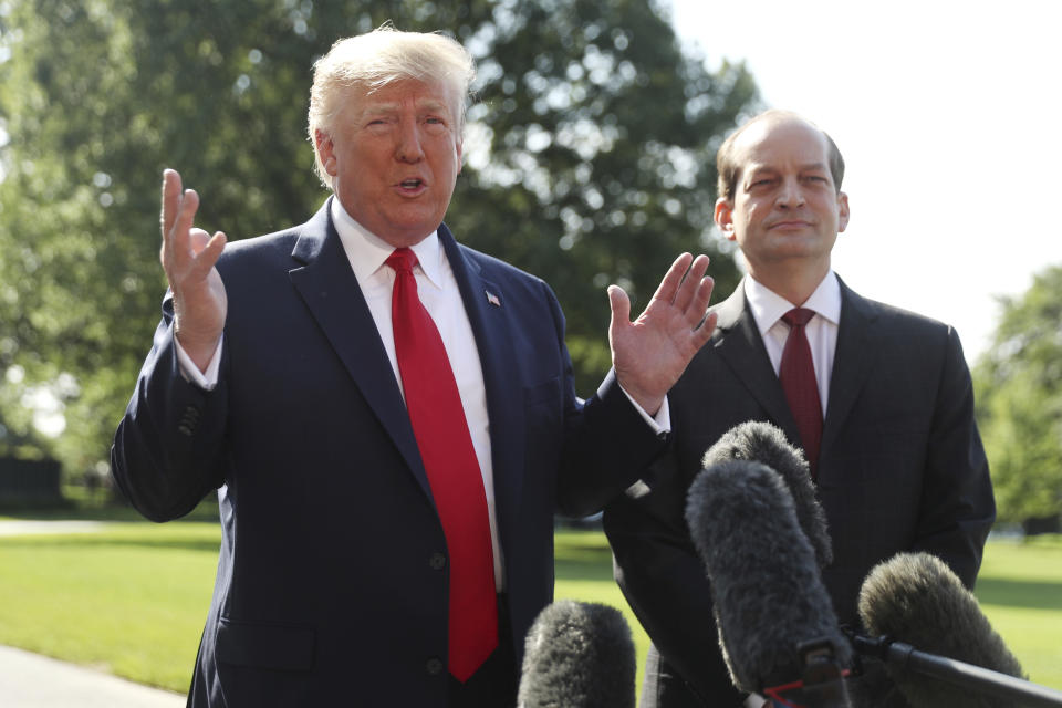
<svg viewBox="0 0 1062 708">
<path fill-rule="evenodd" d="M 848 706 L 842 675 L 852 647 L 782 477 L 757 461 L 717 462 L 690 486 L 686 520 L 735 685 L 775 698 L 799 689 L 802 704 Z"/>
</svg>

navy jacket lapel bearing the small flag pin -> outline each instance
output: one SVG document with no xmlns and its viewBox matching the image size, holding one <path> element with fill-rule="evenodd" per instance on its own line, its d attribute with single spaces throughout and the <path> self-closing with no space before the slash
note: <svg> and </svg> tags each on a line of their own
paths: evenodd
<svg viewBox="0 0 1062 708">
<path fill-rule="evenodd" d="M 519 356 L 512 346 L 507 293 L 483 277 L 480 264 L 467 256 L 445 223 L 439 227 L 439 240 L 457 280 L 483 372 L 496 501 L 499 509 L 514 509 L 523 485 L 519 471 L 527 441 L 522 434 L 523 399 L 514 398 L 522 392 L 516 385 L 520 381 L 516 365 Z"/>
</svg>

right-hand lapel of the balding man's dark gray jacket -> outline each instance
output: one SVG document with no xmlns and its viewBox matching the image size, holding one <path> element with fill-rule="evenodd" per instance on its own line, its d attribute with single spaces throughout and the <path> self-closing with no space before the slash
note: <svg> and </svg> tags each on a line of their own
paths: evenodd
<svg viewBox="0 0 1062 708">
<path fill-rule="evenodd" d="M 885 336 L 877 326 L 878 313 L 873 303 L 848 289 L 840 278 L 837 281 L 841 283 L 841 323 L 822 428 L 823 451 L 830 449 L 844 426 L 864 382 L 877 364 L 883 348 L 881 340 Z"/>
</svg>

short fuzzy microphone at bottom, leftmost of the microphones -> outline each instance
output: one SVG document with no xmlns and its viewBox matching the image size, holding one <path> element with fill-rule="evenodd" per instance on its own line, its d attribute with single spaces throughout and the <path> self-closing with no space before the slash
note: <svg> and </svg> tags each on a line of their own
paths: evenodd
<svg viewBox="0 0 1062 708">
<path fill-rule="evenodd" d="M 528 632 L 518 708 L 635 708 L 631 627 L 615 607 L 560 600 Z"/>
</svg>

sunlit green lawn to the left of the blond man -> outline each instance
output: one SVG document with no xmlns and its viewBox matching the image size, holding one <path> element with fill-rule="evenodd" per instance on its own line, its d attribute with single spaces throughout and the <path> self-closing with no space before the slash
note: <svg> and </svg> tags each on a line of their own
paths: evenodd
<svg viewBox="0 0 1062 708">
<path fill-rule="evenodd" d="M 185 691 L 219 540 L 216 523 L 0 539 L 0 643 Z"/>
</svg>

